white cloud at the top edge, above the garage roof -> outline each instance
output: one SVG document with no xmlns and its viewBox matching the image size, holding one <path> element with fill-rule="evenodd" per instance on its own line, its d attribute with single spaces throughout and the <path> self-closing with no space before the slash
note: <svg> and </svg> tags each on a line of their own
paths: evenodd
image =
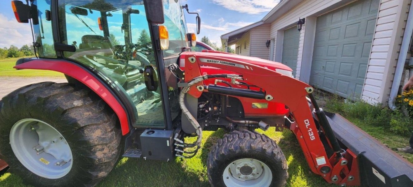
<svg viewBox="0 0 413 187">
<path fill-rule="evenodd" d="M 234 10 L 247 14 L 259 14 L 268 12 L 279 0 L 212 0 L 214 3 L 225 7 L 226 9 Z"/>
</svg>

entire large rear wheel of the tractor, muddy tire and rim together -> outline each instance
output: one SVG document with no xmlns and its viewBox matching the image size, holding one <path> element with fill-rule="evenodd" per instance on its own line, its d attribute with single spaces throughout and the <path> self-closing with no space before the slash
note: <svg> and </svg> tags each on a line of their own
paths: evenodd
<svg viewBox="0 0 413 187">
<path fill-rule="evenodd" d="M 28 184 L 94 186 L 112 170 L 119 158 L 121 132 L 116 122 L 114 112 L 89 89 L 75 89 L 68 83 L 31 84 L 0 101 L 0 154 L 9 164 L 9 171 Z M 53 139 L 48 132 L 58 137 Z M 54 148 L 47 145 L 47 141 L 40 141 L 45 138 L 50 139 Z M 31 147 L 40 146 L 40 142 L 44 146 L 38 149 L 40 151 L 36 150 L 39 147 Z M 21 154 L 24 149 L 26 154 Z M 64 151 L 66 156 L 60 154 Z M 37 153 L 43 155 L 39 160 L 33 159 L 39 158 Z M 31 165 L 43 166 L 48 172 Z M 69 169 L 59 173 L 59 168 Z"/>
</svg>

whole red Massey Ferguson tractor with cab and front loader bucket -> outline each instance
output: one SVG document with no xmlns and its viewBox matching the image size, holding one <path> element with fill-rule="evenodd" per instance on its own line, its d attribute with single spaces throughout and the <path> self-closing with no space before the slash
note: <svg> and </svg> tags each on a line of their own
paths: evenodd
<svg viewBox="0 0 413 187">
<path fill-rule="evenodd" d="M 12 7 L 17 21 L 31 23 L 37 54 L 14 68 L 62 72 L 68 82 L 31 84 L 0 101 L 1 159 L 24 182 L 94 186 L 120 154 L 188 159 L 203 131 L 225 129 L 207 159 L 211 186 L 279 187 L 288 178 L 285 156 L 254 131 L 273 126 L 297 136 L 311 171 L 328 183 L 413 186 L 412 164 L 323 111 L 291 68 L 191 51 L 196 37 L 180 0 L 14 0 Z"/>
</svg>

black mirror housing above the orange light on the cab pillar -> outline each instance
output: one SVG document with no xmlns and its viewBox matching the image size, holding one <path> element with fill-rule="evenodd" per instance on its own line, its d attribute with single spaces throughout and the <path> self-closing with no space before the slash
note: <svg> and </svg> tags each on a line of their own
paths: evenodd
<svg viewBox="0 0 413 187">
<path fill-rule="evenodd" d="M 150 23 L 162 24 L 164 19 L 164 6 L 162 0 L 143 0 L 145 5 L 146 19 Z"/>
</svg>

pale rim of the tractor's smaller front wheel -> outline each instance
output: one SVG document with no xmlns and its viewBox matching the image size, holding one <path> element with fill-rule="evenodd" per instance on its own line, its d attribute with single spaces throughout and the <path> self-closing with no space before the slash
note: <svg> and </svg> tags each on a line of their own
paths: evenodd
<svg viewBox="0 0 413 187">
<path fill-rule="evenodd" d="M 228 187 L 269 187 L 273 173 L 259 160 L 238 159 L 228 164 L 222 177 Z"/>
</svg>

